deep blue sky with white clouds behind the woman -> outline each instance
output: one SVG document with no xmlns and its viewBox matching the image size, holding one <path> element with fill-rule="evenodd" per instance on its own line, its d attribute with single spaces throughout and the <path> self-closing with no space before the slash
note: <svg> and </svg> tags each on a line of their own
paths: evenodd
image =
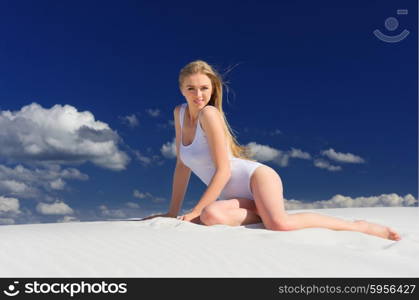
<svg viewBox="0 0 419 300">
<path fill-rule="evenodd" d="M 225 74 L 229 123 L 280 174 L 288 208 L 415 204 L 417 12 L 395 0 L 2 1 L 0 224 L 166 211 L 178 73 L 195 59 Z M 376 29 L 410 34 L 387 43 Z M 183 208 L 204 190 L 192 175 Z"/>
</svg>

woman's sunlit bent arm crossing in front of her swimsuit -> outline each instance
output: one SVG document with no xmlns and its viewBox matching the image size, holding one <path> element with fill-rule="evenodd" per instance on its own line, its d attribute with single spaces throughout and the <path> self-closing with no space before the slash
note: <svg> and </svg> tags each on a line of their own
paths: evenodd
<svg viewBox="0 0 419 300">
<path fill-rule="evenodd" d="M 221 113 L 214 106 L 208 105 L 202 109 L 200 117 L 215 164 L 215 173 L 201 199 L 189 213 L 190 217 L 199 216 L 206 206 L 217 200 L 231 176 L 227 138 Z"/>
</svg>

